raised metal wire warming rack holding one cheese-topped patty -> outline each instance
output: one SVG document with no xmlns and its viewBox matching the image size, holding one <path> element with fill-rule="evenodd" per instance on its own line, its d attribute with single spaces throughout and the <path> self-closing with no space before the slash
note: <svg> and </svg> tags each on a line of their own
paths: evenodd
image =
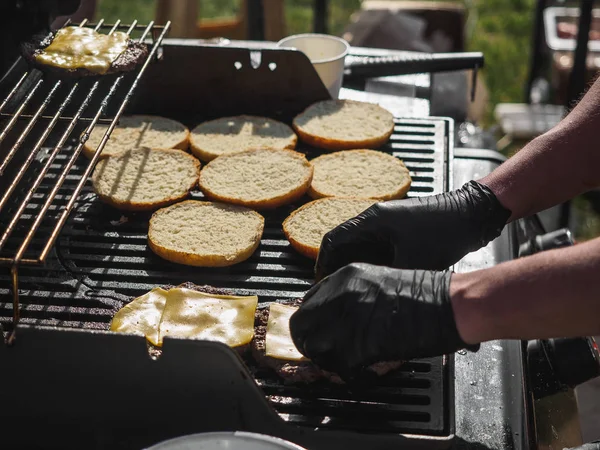
<svg viewBox="0 0 600 450">
<path fill-rule="evenodd" d="M 0 119 L 6 120 L 0 132 L 0 144 L 7 144 L 9 148 L 7 154 L 0 155 L 0 212 L 10 216 L 8 221 L 0 219 L 0 265 L 10 268 L 12 281 L 13 330 L 9 342 L 14 339 L 19 322 L 19 268 L 23 265 L 41 265 L 46 261 L 146 68 L 150 61 L 160 56 L 159 45 L 169 30 L 170 22 L 159 26 L 154 22 L 138 25 L 137 21 L 134 21 L 125 25 L 120 21 L 105 24 L 104 20 L 100 20 L 96 24 L 83 21 L 78 26 L 94 28 L 96 31 L 108 30 L 108 34 L 116 30 L 124 30 L 129 36 L 132 36 L 132 33 L 141 33 L 138 40 L 143 42 L 150 38 L 152 45 L 141 67 L 132 73 L 116 76 L 79 80 L 55 79 L 26 67 L 17 75 L 14 87 L 0 104 Z M 19 98 L 19 94 L 23 92 L 26 92 L 26 95 Z M 78 99 L 80 92 L 84 92 L 85 95 L 77 102 L 75 99 Z M 123 96 L 117 105 L 113 105 L 111 100 L 117 93 L 123 93 Z M 109 115 L 111 109 L 115 112 Z M 68 201 L 64 206 L 56 208 L 57 193 L 72 173 L 75 161 L 97 123 L 107 124 L 108 129 L 94 156 L 84 167 L 78 169 L 78 181 L 69 192 Z M 60 133 L 58 129 L 64 124 L 66 127 Z M 16 131 L 13 134 L 18 137 L 14 142 L 7 143 L 7 136 L 13 130 Z M 57 140 L 54 139 L 55 142 L 49 139 L 51 134 L 58 136 Z M 67 146 L 74 137 L 76 144 Z M 62 170 L 52 176 L 50 169 L 57 158 L 66 158 L 66 161 Z M 34 172 L 38 167 L 32 167 L 32 162 L 40 159 L 44 160 L 44 164 L 39 172 Z M 47 185 L 49 176 L 52 178 L 51 188 L 43 194 L 40 208 L 32 215 L 28 205 L 36 197 L 40 185 Z M 37 197 L 39 201 L 39 195 Z M 11 206 L 10 209 L 7 208 L 8 205 Z M 9 237 L 15 235 L 19 237 L 18 244 L 13 242 L 12 245 L 7 245 Z"/>
</svg>

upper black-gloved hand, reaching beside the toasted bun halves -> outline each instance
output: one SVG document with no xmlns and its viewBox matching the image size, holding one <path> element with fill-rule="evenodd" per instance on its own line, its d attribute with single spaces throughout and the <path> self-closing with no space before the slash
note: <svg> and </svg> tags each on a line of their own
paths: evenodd
<svg viewBox="0 0 600 450">
<path fill-rule="evenodd" d="M 445 194 L 377 203 L 325 235 L 317 280 L 351 262 L 446 269 L 498 237 L 510 215 L 476 181 Z"/>
</svg>

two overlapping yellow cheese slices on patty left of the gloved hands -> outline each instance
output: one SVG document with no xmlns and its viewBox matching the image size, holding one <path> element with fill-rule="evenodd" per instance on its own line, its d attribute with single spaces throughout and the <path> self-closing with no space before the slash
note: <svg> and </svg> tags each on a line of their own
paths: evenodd
<svg viewBox="0 0 600 450">
<path fill-rule="evenodd" d="M 156 288 L 115 314 L 110 329 L 141 334 L 162 346 L 165 336 L 218 341 L 238 347 L 254 336 L 258 297 L 216 295 L 186 288 Z"/>
</svg>

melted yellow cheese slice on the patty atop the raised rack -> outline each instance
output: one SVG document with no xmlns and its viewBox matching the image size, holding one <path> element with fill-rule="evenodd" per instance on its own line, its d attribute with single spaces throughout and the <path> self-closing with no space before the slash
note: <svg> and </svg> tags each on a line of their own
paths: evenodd
<svg viewBox="0 0 600 450">
<path fill-rule="evenodd" d="M 127 49 L 127 34 L 115 31 L 100 34 L 91 28 L 65 27 L 58 30 L 48 47 L 35 59 L 61 69 L 87 69 L 103 74 Z"/>
</svg>

